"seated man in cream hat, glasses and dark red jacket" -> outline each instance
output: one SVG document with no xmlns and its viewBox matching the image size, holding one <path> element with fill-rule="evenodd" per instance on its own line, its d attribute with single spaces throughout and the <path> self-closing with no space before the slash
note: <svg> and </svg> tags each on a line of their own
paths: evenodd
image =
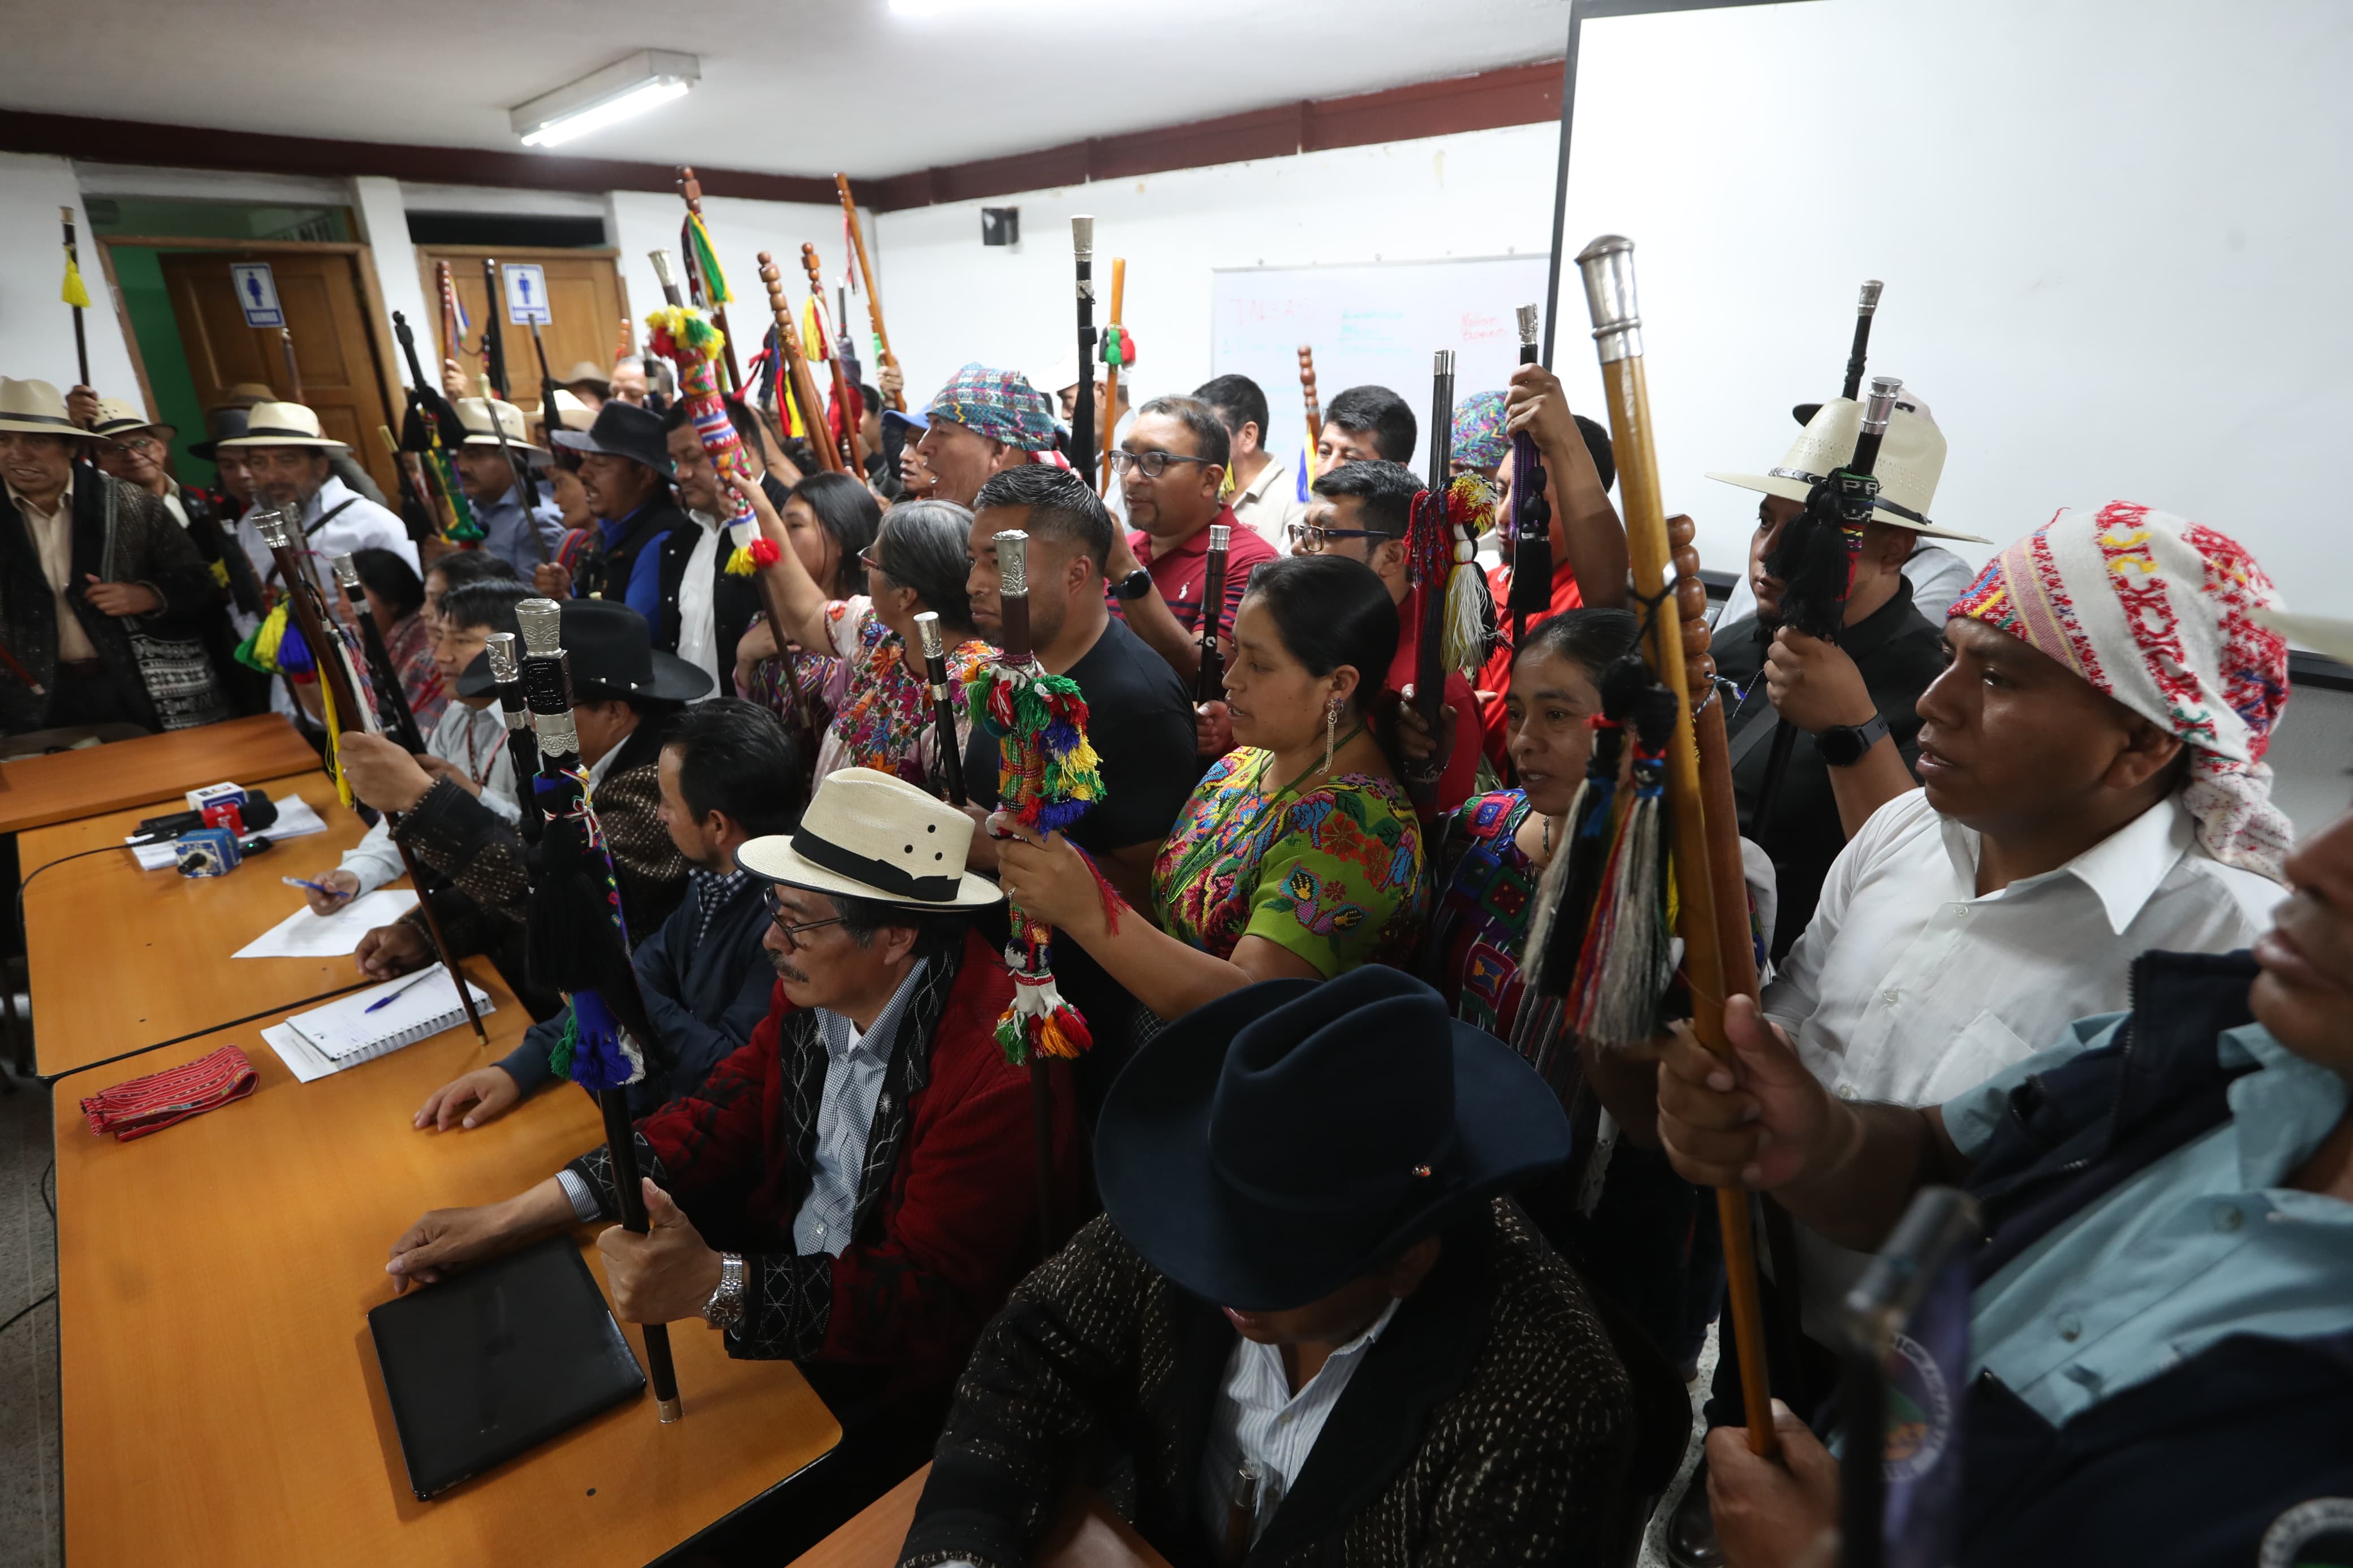
<svg viewBox="0 0 2353 1568">
<path fill-rule="evenodd" d="M 704 1316 L 734 1356 L 798 1361 L 845 1429 L 826 1462 L 866 1476 L 864 1500 L 922 1462 L 974 1338 L 1038 1255 L 1028 1074 L 995 1044 L 1014 983 L 969 929 L 1000 893 L 965 872 L 969 842 L 955 806 L 842 769 L 798 832 L 736 851 L 765 891 L 774 1001 L 701 1093 L 638 1121 L 652 1232 L 598 1239 L 624 1319 Z M 1071 1204 L 1066 1079 L 1056 1126 Z M 386 1272 L 433 1284 L 616 1213 L 600 1145 L 504 1204 L 424 1215 Z"/>
</svg>

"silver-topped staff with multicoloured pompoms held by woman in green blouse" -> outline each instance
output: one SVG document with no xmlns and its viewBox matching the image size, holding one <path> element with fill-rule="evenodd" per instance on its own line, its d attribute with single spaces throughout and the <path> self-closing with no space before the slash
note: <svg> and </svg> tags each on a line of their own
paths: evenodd
<svg viewBox="0 0 2353 1568">
<path fill-rule="evenodd" d="M 1087 743 L 1087 698 L 1068 675 L 1047 675 L 1031 656 L 1028 534 L 995 536 L 998 616 L 1002 649 L 972 670 L 965 703 L 972 722 L 998 738 L 998 809 L 1040 835 L 1064 832 L 1104 799 L 1099 757 Z M 1009 900 L 1007 900 L 1009 903 Z M 1038 1229 L 1052 1255 L 1054 1239 L 1054 1098 L 1047 1060 L 1075 1060 L 1092 1044 L 1087 1020 L 1054 985 L 1054 931 L 1009 903 L 1012 940 L 1005 966 L 1014 971 L 1014 1001 L 998 1018 L 998 1048 L 1014 1067 L 1031 1070 L 1031 1117 L 1038 1126 Z"/>
</svg>

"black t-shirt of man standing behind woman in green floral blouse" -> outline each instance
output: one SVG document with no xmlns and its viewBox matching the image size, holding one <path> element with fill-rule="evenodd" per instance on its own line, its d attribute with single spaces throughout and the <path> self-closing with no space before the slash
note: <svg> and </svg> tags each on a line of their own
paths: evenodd
<svg viewBox="0 0 2353 1568">
<path fill-rule="evenodd" d="M 1078 818 L 1071 842 L 1092 856 L 1158 844 L 1207 769 L 1193 750 L 1193 701 L 1184 682 L 1122 621 L 1106 621 L 1104 635 L 1066 675 L 1087 698 L 1087 741 L 1104 759 L 1104 799 Z M 998 804 L 998 741 L 979 726 L 965 748 L 965 795 L 976 806 Z M 984 926 L 1002 945 L 1005 905 L 995 905 Z M 1094 1034 L 1094 1051 L 1080 1067 L 1080 1100 L 1092 1119 L 1111 1079 L 1127 1065 L 1136 999 L 1068 940 L 1054 943 L 1054 983 Z"/>
</svg>

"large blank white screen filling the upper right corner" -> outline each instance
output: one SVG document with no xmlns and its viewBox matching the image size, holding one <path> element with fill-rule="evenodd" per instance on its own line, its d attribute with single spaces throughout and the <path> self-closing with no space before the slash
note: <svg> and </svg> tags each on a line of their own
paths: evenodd
<svg viewBox="0 0 2353 1568">
<path fill-rule="evenodd" d="M 1998 545 L 2139 501 L 2353 616 L 2353 5 L 1812 0 L 1584 24 L 1565 249 L 1635 240 L 1668 510 L 1737 569 L 1793 402 L 1871 371 Z M 1555 367 L 1602 407 L 1562 277 Z M 1953 545 L 1972 562 L 1986 545 Z"/>
</svg>

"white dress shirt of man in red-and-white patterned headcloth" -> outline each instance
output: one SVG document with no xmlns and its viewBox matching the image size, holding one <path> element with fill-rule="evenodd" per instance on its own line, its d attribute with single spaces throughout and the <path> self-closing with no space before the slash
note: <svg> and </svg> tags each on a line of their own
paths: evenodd
<svg viewBox="0 0 2353 1568">
<path fill-rule="evenodd" d="M 2129 1006 L 2137 954 L 2245 947 L 2285 896 L 2207 856 L 2179 797 L 1995 893 L 1977 893 L 1977 832 L 1911 790 L 1831 865 L 1762 1009 L 1840 1098 L 1941 1105 Z M 1807 1333 L 1831 1340 L 1864 1255 L 1800 1227 L 1800 1262 Z"/>
</svg>

